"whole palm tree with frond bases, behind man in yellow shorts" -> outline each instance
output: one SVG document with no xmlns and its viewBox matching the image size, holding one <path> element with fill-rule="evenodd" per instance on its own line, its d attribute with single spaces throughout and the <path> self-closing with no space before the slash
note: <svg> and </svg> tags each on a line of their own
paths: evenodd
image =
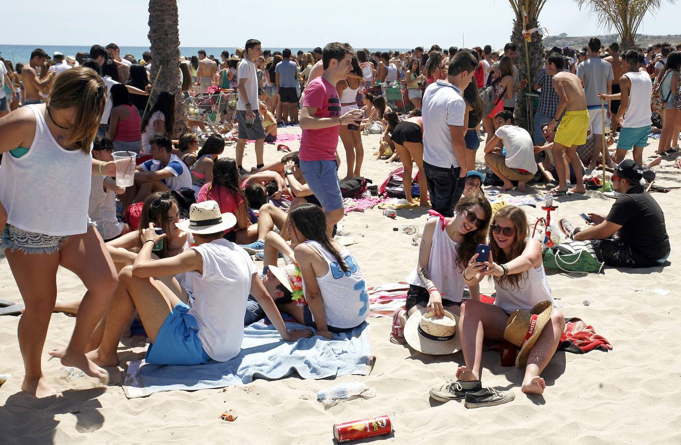
<svg viewBox="0 0 681 445">
<path fill-rule="evenodd" d="M 534 85 L 539 71 L 543 67 L 544 46 L 541 43 L 541 35 L 533 33 L 531 41 L 525 44 L 525 37 L 522 35 L 523 29 L 533 29 L 539 27 L 539 13 L 544 7 L 546 0 L 509 0 L 511 9 L 516 14 L 513 20 L 513 33 L 511 42 L 518 47 L 518 69 L 520 70 L 520 80 L 527 80 L 526 91 Z M 523 12 L 526 14 L 524 21 Z M 530 128 L 533 116 L 528 115 L 528 98 L 519 94 L 516 101 L 516 123 L 525 129 Z"/>
</svg>

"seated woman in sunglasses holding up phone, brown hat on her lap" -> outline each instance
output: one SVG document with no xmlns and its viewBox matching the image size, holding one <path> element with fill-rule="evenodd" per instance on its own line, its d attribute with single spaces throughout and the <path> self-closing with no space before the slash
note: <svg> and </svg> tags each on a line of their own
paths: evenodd
<svg viewBox="0 0 681 445">
<path fill-rule="evenodd" d="M 494 281 L 494 304 L 466 301 L 461 307 L 459 334 L 466 364 L 456 372 L 452 397 L 463 398 L 466 391 L 481 389 L 482 340 L 503 340 L 509 315 L 515 310 L 529 311 L 541 301 L 554 301 L 544 271 L 541 244 L 529 238 L 525 212 L 515 205 L 499 209 L 490 225 L 490 259 L 477 263 L 475 254 L 464 270 L 464 283 L 477 286 L 485 277 Z M 554 308 L 550 323 L 533 346 L 522 381 L 522 392 L 543 393 L 546 384 L 539 376 L 558 348 L 565 329 L 565 318 Z"/>
</svg>

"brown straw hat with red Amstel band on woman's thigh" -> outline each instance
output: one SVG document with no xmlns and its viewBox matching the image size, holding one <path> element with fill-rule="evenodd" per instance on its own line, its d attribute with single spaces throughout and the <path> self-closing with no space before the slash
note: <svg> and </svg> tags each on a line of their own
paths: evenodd
<svg viewBox="0 0 681 445">
<path fill-rule="evenodd" d="M 551 319 L 552 301 L 541 301 L 530 312 L 516 310 L 506 323 L 504 340 L 518 346 L 520 352 L 516 357 L 516 366 L 524 366 L 527 356 L 539 338 L 539 334 Z"/>
</svg>

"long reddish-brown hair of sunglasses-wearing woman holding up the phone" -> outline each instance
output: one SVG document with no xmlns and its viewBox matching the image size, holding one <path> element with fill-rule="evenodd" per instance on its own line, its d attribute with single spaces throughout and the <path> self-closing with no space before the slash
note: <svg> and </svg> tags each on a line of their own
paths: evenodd
<svg viewBox="0 0 681 445">
<path fill-rule="evenodd" d="M 520 257 L 525 248 L 525 240 L 530 235 L 530 226 L 527 223 L 527 216 L 524 210 L 516 205 L 505 205 L 497 210 L 492 218 L 492 224 L 496 223 L 499 218 L 504 218 L 513 223 L 513 228 L 516 229 L 516 239 L 511 244 L 511 252 L 507 256 L 505 252 L 496 244 L 494 235 L 490 233 L 490 251 L 492 252 L 492 259 L 494 263 L 503 264 Z M 493 277 L 494 281 L 502 289 L 518 289 L 520 281 L 526 278 L 527 272 L 522 274 L 505 275 L 502 277 Z M 490 275 L 491 277 L 491 275 Z"/>
</svg>

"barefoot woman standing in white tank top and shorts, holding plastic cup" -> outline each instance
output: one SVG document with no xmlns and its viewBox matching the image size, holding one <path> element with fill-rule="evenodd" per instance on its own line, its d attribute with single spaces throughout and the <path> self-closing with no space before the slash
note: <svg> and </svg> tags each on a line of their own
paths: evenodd
<svg viewBox="0 0 681 445">
<path fill-rule="evenodd" d="M 95 71 L 74 68 L 55 80 L 46 104 L 20 108 L 0 122 L 0 202 L 7 209 L 2 250 L 26 306 L 18 327 L 21 388 L 37 397 L 55 393 L 40 362 L 60 265 L 88 290 L 61 362 L 108 379 L 85 356 L 118 282 L 101 236 L 88 223 L 91 175 L 116 175 L 113 162 L 93 161 L 90 152 L 105 102 L 106 84 Z"/>
</svg>

